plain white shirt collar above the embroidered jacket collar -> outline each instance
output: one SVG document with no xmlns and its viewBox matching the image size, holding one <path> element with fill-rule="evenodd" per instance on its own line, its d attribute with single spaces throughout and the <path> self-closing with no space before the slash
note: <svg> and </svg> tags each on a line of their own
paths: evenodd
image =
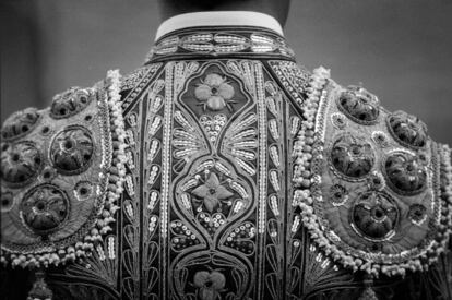
<svg viewBox="0 0 452 300">
<path fill-rule="evenodd" d="M 175 15 L 160 24 L 155 40 L 178 29 L 200 26 L 254 26 L 283 34 L 279 22 L 271 15 L 253 11 L 210 11 Z"/>
</svg>

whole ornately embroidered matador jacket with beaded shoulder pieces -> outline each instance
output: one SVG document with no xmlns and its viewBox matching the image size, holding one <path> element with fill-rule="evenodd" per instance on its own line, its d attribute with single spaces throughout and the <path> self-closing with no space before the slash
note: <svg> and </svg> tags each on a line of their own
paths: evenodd
<svg viewBox="0 0 452 300">
<path fill-rule="evenodd" d="M 5 299 L 452 299 L 450 148 L 274 31 L 173 31 L 1 140 Z"/>
</svg>

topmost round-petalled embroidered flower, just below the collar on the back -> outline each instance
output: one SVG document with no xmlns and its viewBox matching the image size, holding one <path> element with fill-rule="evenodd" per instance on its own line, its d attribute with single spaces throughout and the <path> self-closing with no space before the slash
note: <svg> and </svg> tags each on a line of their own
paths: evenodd
<svg viewBox="0 0 452 300">
<path fill-rule="evenodd" d="M 222 110 L 227 106 L 230 111 L 230 99 L 234 97 L 234 87 L 226 81 L 226 77 L 216 73 L 205 76 L 204 81 L 194 89 L 194 96 L 202 103 L 203 108 L 207 107 L 213 111 Z"/>
</svg>

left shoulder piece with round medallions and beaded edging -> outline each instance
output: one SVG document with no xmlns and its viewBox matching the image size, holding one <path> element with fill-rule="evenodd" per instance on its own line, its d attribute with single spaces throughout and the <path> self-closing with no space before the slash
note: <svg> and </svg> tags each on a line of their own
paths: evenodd
<svg viewBox="0 0 452 300">
<path fill-rule="evenodd" d="M 111 230 L 124 181 L 120 74 L 12 115 L 1 130 L 1 262 L 83 260 Z"/>
</svg>

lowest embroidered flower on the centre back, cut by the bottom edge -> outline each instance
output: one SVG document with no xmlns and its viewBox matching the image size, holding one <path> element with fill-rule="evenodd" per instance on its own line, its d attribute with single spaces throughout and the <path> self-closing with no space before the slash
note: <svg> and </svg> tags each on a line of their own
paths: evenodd
<svg viewBox="0 0 452 300">
<path fill-rule="evenodd" d="M 201 300 L 222 299 L 219 292 L 225 285 L 226 277 L 218 271 L 200 271 L 193 277 L 193 286 L 198 288 L 198 298 Z"/>
</svg>

